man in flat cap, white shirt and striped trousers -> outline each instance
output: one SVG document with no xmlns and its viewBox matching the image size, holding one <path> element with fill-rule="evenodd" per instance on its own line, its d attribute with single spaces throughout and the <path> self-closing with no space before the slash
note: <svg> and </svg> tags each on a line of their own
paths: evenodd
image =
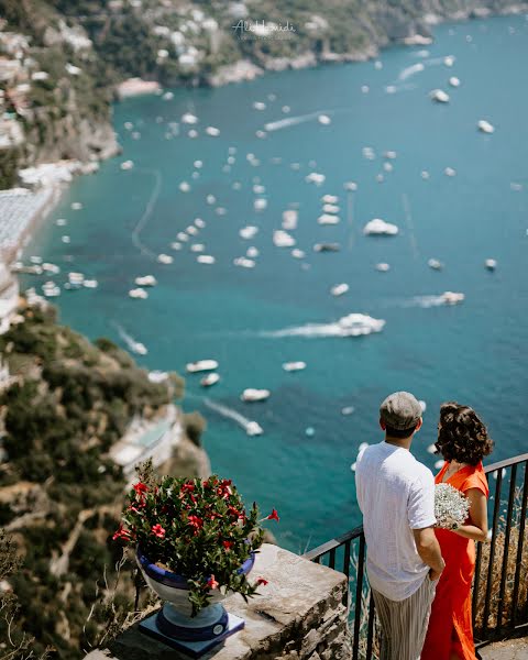
<svg viewBox="0 0 528 660">
<path fill-rule="evenodd" d="M 380 408 L 385 441 L 358 458 L 355 483 L 367 544 L 366 572 L 382 625 L 381 660 L 417 660 L 446 565 L 435 536 L 435 480 L 410 453 L 421 406 L 408 392 Z"/>
</svg>

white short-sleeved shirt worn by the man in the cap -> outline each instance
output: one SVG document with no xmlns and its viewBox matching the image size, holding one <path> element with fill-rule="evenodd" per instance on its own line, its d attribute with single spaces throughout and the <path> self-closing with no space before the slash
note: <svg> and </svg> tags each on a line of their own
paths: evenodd
<svg viewBox="0 0 528 660">
<path fill-rule="evenodd" d="M 380 442 L 358 457 L 355 484 L 371 586 L 391 601 L 408 598 L 429 572 L 413 530 L 437 521 L 432 473 L 410 451 Z"/>
</svg>

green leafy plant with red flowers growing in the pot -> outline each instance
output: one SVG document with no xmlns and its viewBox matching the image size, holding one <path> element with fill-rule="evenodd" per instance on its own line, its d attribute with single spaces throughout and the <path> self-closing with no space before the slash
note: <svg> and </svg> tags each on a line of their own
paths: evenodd
<svg viewBox="0 0 528 660">
<path fill-rule="evenodd" d="M 113 535 L 139 546 L 153 563 L 185 575 L 196 615 L 212 591 L 226 587 L 244 597 L 256 593 L 240 568 L 263 542 L 256 504 L 249 513 L 231 480 L 165 476 L 139 482 L 129 493 L 123 525 Z"/>
</svg>

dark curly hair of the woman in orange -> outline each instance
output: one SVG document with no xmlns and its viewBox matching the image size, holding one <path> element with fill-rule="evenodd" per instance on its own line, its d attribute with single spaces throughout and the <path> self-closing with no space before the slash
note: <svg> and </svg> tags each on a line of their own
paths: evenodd
<svg viewBox="0 0 528 660">
<path fill-rule="evenodd" d="M 473 408 L 448 402 L 440 406 L 437 453 L 446 461 L 477 465 L 493 451 L 493 440 Z"/>
</svg>

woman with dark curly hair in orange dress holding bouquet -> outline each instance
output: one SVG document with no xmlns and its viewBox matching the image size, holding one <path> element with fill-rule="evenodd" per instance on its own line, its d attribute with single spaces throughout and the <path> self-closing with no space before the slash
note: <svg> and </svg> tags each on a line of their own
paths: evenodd
<svg viewBox="0 0 528 660">
<path fill-rule="evenodd" d="M 421 660 L 476 660 L 471 623 L 474 541 L 487 540 L 488 487 L 483 457 L 493 441 L 476 413 L 454 402 L 440 408 L 437 452 L 444 459 L 435 483 L 448 483 L 470 501 L 470 513 L 458 529 L 436 529 L 446 561 L 437 585 Z"/>
</svg>

